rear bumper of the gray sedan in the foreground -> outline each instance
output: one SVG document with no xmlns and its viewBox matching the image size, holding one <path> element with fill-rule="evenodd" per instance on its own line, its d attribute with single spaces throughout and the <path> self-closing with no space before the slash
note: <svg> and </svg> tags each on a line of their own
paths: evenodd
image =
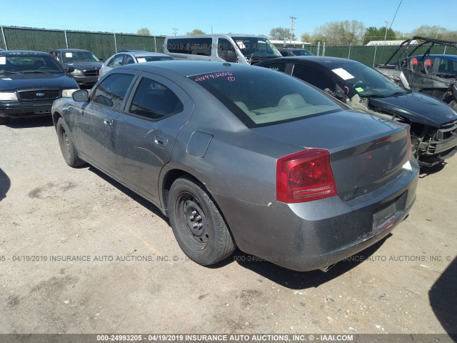
<svg viewBox="0 0 457 343">
<path fill-rule="evenodd" d="M 338 196 L 301 204 L 260 205 L 213 194 L 238 247 L 288 269 L 322 269 L 392 231 L 416 199 L 418 164 L 393 182 L 346 202 Z"/>
</svg>

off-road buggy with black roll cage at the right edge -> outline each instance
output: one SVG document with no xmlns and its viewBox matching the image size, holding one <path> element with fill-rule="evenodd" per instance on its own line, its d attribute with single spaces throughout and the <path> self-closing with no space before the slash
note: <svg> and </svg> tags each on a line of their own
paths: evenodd
<svg viewBox="0 0 457 343">
<path fill-rule="evenodd" d="M 453 92 L 457 82 L 456 54 L 456 41 L 413 36 L 377 69 L 403 88 L 428 94 L 457 109 L 457 94 Z"/>
</svg>

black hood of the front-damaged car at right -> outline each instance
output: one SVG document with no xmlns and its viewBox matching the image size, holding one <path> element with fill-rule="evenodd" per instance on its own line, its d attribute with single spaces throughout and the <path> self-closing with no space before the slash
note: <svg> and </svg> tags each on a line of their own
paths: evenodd
<svg viewBox="0 0 457 343">
<path fill-rule="evenodd" d="M 370 98 L 370 105 L 413 122 L 434 127 L 441 127 L 457 120 L 456 111 L 443 101 L 416 91 L 386 98 Z"/>
</svg>

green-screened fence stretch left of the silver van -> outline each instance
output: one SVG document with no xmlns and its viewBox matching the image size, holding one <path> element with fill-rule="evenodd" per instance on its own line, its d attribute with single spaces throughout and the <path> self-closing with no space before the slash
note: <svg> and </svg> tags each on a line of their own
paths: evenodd
<svg viewBox="0 0 457 343">
<path fill-rule="evenodd" d="M 52 51 L 85 49 L 106 60 L 121 50 L 164 51 L 164 36 L 0 26 L 0 49 Z"/>
</svg>

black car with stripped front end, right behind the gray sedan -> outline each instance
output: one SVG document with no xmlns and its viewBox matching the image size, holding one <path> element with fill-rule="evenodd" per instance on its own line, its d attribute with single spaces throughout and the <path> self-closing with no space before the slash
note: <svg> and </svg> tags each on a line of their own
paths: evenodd
<svg viewBox="0 0 457 343">
<path fill-rule="evenodd" d="M 353 109 L 410 125 L 413 155 L 434 166 L 457 145 L 457 112 L 438 99 L 403 89 L 357 61 L 325 56 L 282 57 L 256 66 L 283 71 L 340 99 Z"/>
</svg>

